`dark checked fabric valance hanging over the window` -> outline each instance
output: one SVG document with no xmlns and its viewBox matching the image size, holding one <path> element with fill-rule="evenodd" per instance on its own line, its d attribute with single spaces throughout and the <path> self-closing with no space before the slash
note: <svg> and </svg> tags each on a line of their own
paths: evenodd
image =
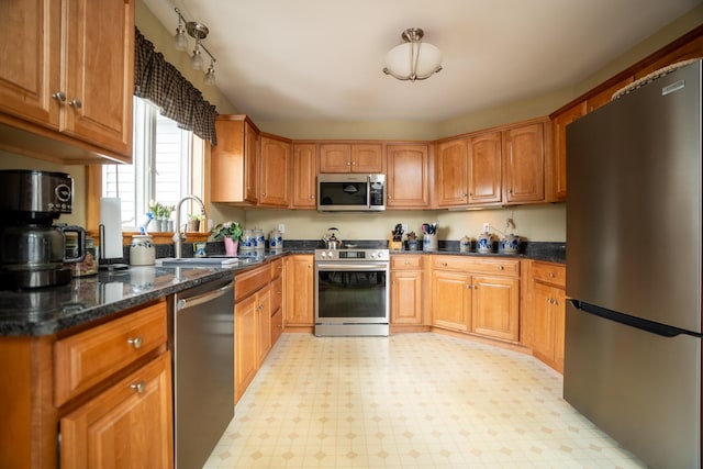
<svg viewBox="0 0 703 469">
<path fill-rule="evenodd" d="M 215 107 L 180 71 L 154 49 L 140 30 L 135 32 L 134 96 L 148 99 L 160 108 L 163 115 L 200 138 L 217 144 Z"/>
</svg>

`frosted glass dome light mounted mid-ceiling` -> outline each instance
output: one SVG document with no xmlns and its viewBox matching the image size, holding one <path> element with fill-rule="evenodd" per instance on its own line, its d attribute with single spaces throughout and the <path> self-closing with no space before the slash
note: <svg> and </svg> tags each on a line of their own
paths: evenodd
<svg viewBox="0 0 703 469">
<path fill-rule="evenodd" d="M 404 41 L 386 54 L 383 72 L 399 80 L 425 80 L 442 70 L 442 53 L 432 44 L 423 43 L 425 32 L 410 27 L 400 35 Z"/>
</svg>

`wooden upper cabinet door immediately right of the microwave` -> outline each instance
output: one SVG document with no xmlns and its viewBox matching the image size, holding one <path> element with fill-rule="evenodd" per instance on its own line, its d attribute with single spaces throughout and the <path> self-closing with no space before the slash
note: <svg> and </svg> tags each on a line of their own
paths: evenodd
<svg viewBox="0 0 703 469">
<path fill-rule="evenodd" d="M 424 209 L 429 205 L 427 145 L 388 145 L 389 208 Z"/>
</svg>

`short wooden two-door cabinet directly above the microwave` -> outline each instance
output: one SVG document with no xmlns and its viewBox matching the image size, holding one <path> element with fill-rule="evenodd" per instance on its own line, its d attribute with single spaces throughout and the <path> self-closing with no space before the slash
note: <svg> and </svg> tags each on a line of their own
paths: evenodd
<svg viewBox="0 0 703 469">
<path fill-rule="evenodd" d="M 383 145 L 323 143 L 320 145 L 320 172 L 383 172 Z"/>
</svg>

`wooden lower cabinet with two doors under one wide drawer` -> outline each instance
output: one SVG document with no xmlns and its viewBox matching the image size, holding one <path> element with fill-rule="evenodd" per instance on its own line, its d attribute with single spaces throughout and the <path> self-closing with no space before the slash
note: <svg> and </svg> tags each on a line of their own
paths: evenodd
<svg viewBox="0 0 703 469">
<path fill-rule="evenodd" d="M 520 260 L 434 256 L 432 325 L 520 340 Z"/>
</svg>

